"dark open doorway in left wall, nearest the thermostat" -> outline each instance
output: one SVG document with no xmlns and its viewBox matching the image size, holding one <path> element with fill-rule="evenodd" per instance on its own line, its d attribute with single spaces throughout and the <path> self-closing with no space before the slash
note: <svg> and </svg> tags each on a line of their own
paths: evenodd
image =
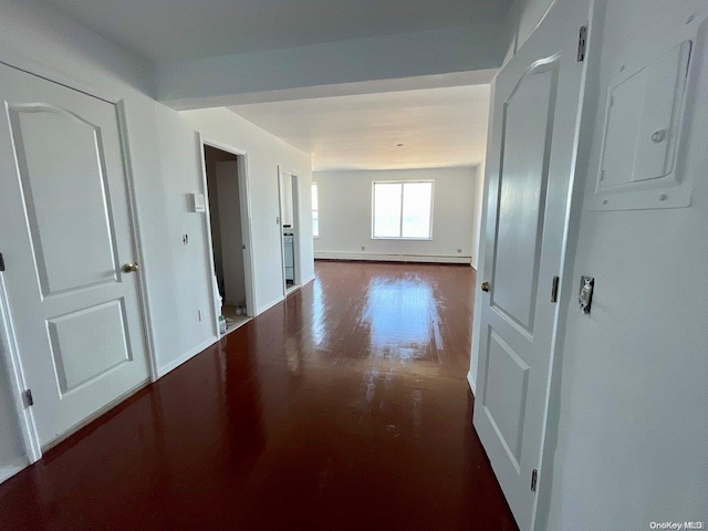
<svg viewBox="0 0 708 531">
<path fill-rule="evenodd" d="M 204 155 L 215 308 L 223 335 L 253 315 L 246 156 L 207 143 L 204 144 Z"/>
</svg>

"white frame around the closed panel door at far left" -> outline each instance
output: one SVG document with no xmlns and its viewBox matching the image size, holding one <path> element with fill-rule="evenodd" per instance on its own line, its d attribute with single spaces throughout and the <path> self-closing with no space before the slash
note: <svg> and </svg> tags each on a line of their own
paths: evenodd
<svg viewBox="0 0 708 531">
<path fill-rule="evenodd" d="M 51 83 L 55 83 L 59 85 L 63 85 L 67 88 L 71 88 L 76 92 L 81 92 L 86 94 L 87 96 L 92 96 L 98 100 L 102 100 L 106 103 L 115 105 L 116 107 L 116 121 L 118 126 L 118 135 L 121 138 L 121 149 L 123 155 L 123 164 L 124 164 L 124 173 L 125 173 L 125 183 L 127 190 L 127 207 L 128 207 L 128 218 L 131 223 L 131 237 L 132 237 L 132 246 L 134 257 L 139 264 L 145 264 L 145 254 L 144 254 L 144 246 L 143 246 L 143 236 L 140 231 L 138 215 L 137 215 L 137 199 L 135 192 L 135 176 L 133 171 L 133 160 L 131 157 L 131 148 L 128 142 L 128 118 L 125 100 L 123 97 L 117 96 L 108 91 L 103 88 L 98 88 L 94 85 L 90 85 L 87 83 L 83 83 L 81 81 L 76 81 L 72 77 L 67 77 L 63 73 L 55 71 L 53 69 L 46 67 L 41 63 L 35 61 L 28 60 L 25 58 L 19 56 L 11 52 L 3 54 L 0 58 L 0 63 L 6 66 L 19 70 L 29 75 L 34 75 L 41 80 L 49 81 Z M 143 335 L 145 337 L 145 355 L 147 358 L 147 365 L 149 369 L 150 382 L 156 382 L 158 379 L 157 373 L 157 358 L 155 351 L 155 335 L 152 326 L 152 314 L 150 314 L 150 305 L 149 305 L 149 295 L 147 291 L 147 281 L 145 277 L 145 268 L 142 267 L 135 273 L 137 275 L 137 289 L 138 289 L 138 302 L 139 302 L 139 312 L 140 312 L 140 323 L 143 327 Z M 12 316 L 10 312 L 10 304 L 7 296 L 7 290 L 4 288 L 4 279 L 2 273 L 0 273 L 0 330 L 4 333 L 7 337 L 7 342 L 4 347 L 7 350 L 6 362 L 8 366 L 8 376 L 10 377 L 10 387 L 12 391 L 12 395 L 15 402 L 18 423 L 20 425 L 22 431 L 22 439 L 24 442 L 24 448 L 27 451 L 28 464 L 31 465 L 33 462 L 39 461 L 42 458 L 42 446 L 40 442 L 37 423 L 34 419 L 34 415 L 32 414 L 32 409 L 24 405 L 23 393 L 24 389 L 29 387 L 27 383 L 27 377 L 24 374 L 23 365 L 22 365 L 22 356 L 20 354 L 20 348 L 17 343 L 17 337 L 14 334 L 14 327 L 12 323 Z M 2 345 L 0 345 L 1 347 Z M 135 389 L 131 389 L 128 394 L 122 396 L 118 402 L 125 400 L 131 394 L 139 391 L 142 386 L 138 386 Z M 106 404 L 103 408 L 96 412 L 94 415 L 91 415 L 84 423 L 81 423 L 76 430 L 81 429 L 91 420 L 97 418 L 103 413 L 105 413 L 111 407 L 114 407 L 116 403 Z M 4 478 L 0 478 L 2 481 Z"/>
</svg>

